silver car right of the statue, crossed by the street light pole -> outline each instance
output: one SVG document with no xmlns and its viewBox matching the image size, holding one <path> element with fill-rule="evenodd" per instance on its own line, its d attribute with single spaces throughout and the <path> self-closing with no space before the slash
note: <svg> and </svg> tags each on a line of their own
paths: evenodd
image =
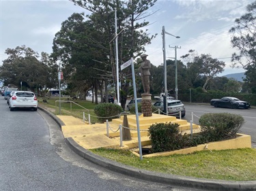
<svg viewBox="0 0 256 191">
<path fill-rule="evenodd" d="M 156 101 L 154 106 L 164 111 L 164 102 L 163 101 Z M 170 116 L 180 116 L 180 111 L 182 112 L 182 118 L 186 114 L 185 105 L 180 100 L 167 100 L 167 108 L 168 108 L 168 115 Z"/>
</svg>

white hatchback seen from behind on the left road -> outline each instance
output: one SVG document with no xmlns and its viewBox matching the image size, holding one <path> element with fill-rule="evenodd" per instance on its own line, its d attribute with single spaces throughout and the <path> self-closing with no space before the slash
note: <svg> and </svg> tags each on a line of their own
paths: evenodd
<svg viewBox="0 0 256 191">
<path fill-rule="evenodd" d="M 38 110 L 38 99 L 33 92 L 16 91 L 9 100 L 10 111 L 15 108 L 31 108 Z"/>
</svg>

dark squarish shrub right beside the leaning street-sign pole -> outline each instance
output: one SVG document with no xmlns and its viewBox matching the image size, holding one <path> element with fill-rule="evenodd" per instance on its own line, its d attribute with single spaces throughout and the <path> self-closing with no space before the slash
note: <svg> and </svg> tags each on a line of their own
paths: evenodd
<svg viewBox="0 0 256 191">
<path fill-rule="evenodd" d="M 183 147 L 182 133 L 179 124 L 158 123 L 149 128 L 152 152 L 179 150 Z"/>
</svg>

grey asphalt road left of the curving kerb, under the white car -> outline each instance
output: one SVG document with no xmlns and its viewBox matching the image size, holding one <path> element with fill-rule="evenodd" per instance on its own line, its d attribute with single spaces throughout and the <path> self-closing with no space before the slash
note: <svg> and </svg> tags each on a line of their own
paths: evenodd
<svg viewBox="0 0 256 191">
<path fill-rule="evenodd" d="M 98 167 L 70 150 L 55 121 L 43 111 L 10 111 L 3 97 L 0 121 L 0 190 L 197 191 Z"/>
</svg>

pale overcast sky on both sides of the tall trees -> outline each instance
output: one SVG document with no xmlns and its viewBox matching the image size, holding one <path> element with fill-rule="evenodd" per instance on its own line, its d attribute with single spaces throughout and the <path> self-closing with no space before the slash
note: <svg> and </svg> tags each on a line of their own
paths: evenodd
<svg viewBox="0 0 256 191">
<path fill-rule="evenodd" d="M 188 50 L 196 50 L 198 54 L 211 54 L 212 58 L 223 60 L 227 66 L 221 75 L 239 73 L 242 69 L 231 69 L 231 48 L 229 29 L 236 18 L 246 12 L 249 0 L 158 0 L 149 10 L 157 11 L 146 18 L 150 21 L 148 33 L 158 33 L 152 44 L 146 46 L 147 57 L 153 65 L 163 63 L 162 27 L 176 39 L 166 35 L 166 56 L 177 59 L 187 54 Z M 25 45 L 38 53 L 52 52 L 53 38 L 60 30 L 61 22 L 74 12 L 86 12 L 68 0 L 0 0 L 0 65 L 7 58 L 7 48 Z M 125 60 L 124 60 L 125 61 Z"/>
</svg>

